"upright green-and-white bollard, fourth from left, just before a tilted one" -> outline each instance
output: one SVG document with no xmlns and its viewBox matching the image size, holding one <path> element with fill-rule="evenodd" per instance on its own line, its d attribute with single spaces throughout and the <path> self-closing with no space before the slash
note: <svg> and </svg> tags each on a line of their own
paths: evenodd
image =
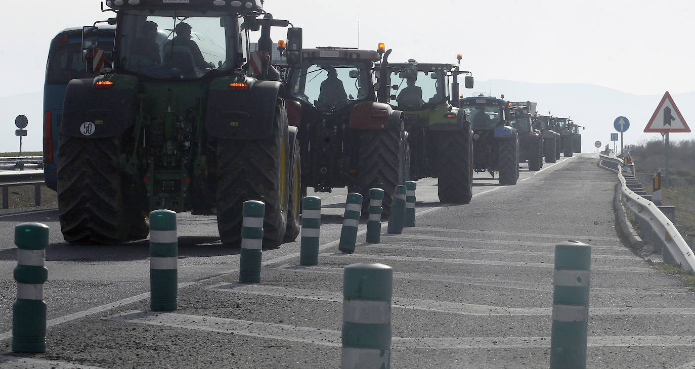
<svg viewBox="0 0 695 369">
<path fill-rule="evenodd" d="M 321 199 L 306 196 L 302 200 L 302 236 L 300 264 L 318 265 L 318 236 L 321 227 Z"/>
</svg>

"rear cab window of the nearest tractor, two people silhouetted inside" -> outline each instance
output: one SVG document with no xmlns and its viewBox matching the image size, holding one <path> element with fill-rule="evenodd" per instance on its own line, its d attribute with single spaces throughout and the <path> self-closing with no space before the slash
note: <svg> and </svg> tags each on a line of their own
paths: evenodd
<svg viewBox="0 0 695 369">
<path fill-rule="evenodd" d="M 118 45 L 120 67 L 155 79 L 197 79 L 215 69 L 240 67 L 233 63 L 240 40 L 238 21 L 228 13 L 214 13 L 124 15 Z"/>
</svg>

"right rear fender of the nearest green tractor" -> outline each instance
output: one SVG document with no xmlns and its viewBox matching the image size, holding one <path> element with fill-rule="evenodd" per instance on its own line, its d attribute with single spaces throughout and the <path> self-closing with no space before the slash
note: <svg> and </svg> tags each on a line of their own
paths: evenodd
<svg viewBox="0 0 695 369">
<path fill-rule="evenodd" d="M 246 79 L 247 90 L 231 90 L 229 83 L 236 81 L 235 77 L 224 76 L 211 83 L 205 120 L 208 135 L 236 140 L 272 136 L 282 84 Z"/>
</svg>

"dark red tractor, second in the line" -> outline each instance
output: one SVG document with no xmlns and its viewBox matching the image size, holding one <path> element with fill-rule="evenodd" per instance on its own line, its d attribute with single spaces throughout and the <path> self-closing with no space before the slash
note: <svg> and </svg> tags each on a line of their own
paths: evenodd
<svg viewBox="0 0 695 369">
<path fill-rule="evenodd" d="M 281 48 L 282 45 L 279 44 Z M 407 133 L 400 110 L 388 104 L 375 63 L 388 65 L 391 50 L 340 47 L 302 49 L 302 60 L 285 71 L 289 123 L 299 127 L 302 183 L 316 192 L 347 186 L 368 199 L 385 192 L 391 210 L 395 186 L 407 181 Z M 368 201 L 363 202 L 363 215 Z"/>
</svg>

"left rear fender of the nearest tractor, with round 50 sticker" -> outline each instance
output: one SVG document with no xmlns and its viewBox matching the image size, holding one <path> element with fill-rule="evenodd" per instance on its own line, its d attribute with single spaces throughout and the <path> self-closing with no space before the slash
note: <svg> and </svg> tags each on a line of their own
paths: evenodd
<svg viewBox="0 0 695 369">
<path fill-rule="evenodd" d="M 95 81 L 113 81 L 111 88 L 95 88 Z M 83 138 L 122 135 L 135 124 L 138 80 L 133 76 L 97 76 L 67 83 L 60 134 Z"/>
</svg>

